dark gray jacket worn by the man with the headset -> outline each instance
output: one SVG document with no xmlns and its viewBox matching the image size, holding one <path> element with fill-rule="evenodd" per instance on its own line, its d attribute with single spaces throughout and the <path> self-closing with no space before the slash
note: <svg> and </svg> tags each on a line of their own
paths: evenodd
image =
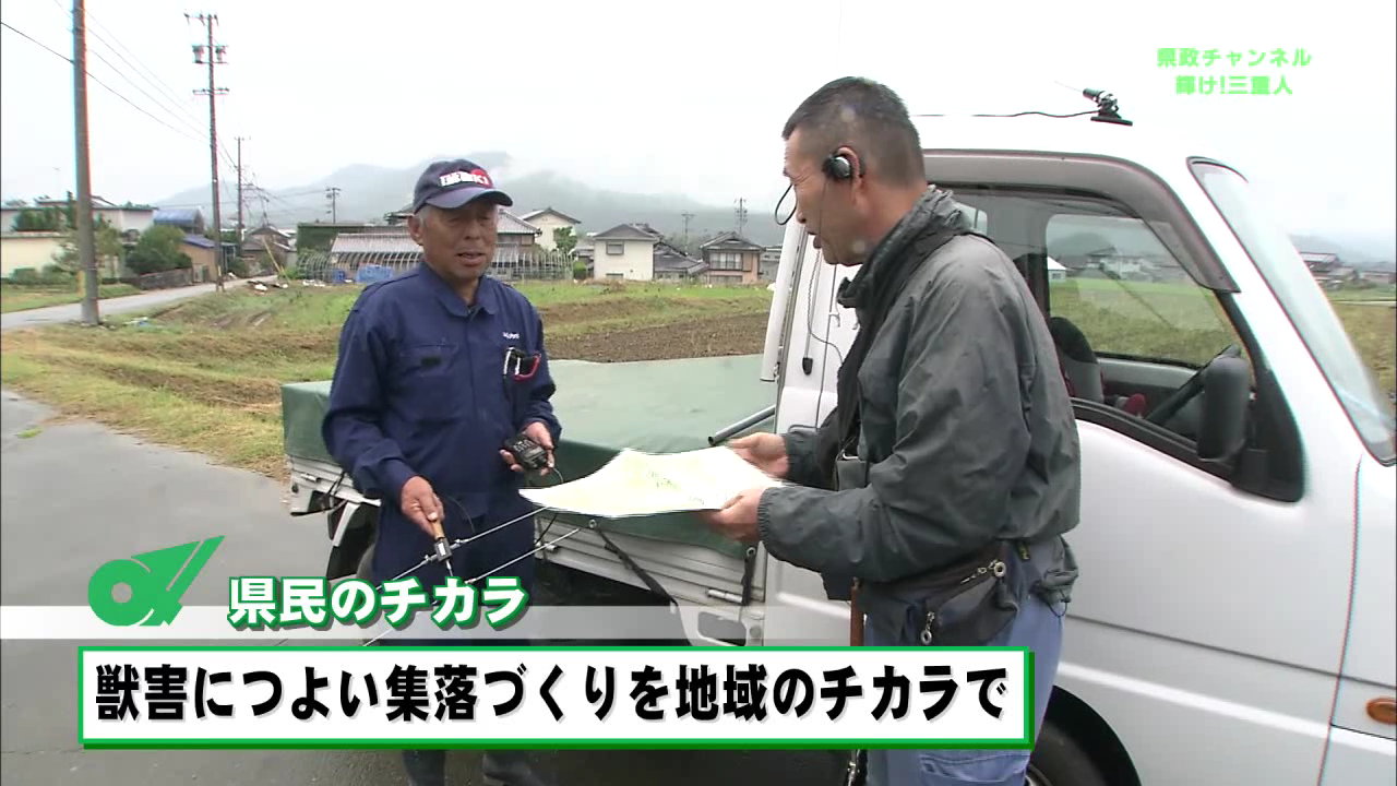
<svg viewBox="0 0 1397 786">
<path fill-rule="evenodd" d="M 947 196 L 928 192 L 866 266 L 963 221 Z M 1052 538 L 1039 569 L 1067 599 L 1076 564 L 1053 536 L 1078 519 L 1077 428 L 1048 324 L 1013 262 L 977 235 L 940 246 L 911 273 L 858 379 L 866 485 L 834 491 L 817 459 L 838 441 L 837 418 L 785 434 L 792 485 L 767 490 L 757 510 L 767 551 L 828 587 L 831 576 L 847 586 L 925 575 L 995 538 Z"/>
</svg>

